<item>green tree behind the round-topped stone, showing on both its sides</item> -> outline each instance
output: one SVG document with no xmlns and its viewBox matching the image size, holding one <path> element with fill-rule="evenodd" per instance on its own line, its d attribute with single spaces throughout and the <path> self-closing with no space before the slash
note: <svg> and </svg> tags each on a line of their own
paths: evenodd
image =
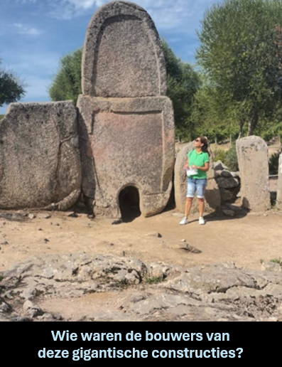
<svg viewBox="0 0 282 367">
<path fill-rule="evenodd" d="M 177 58 L 166 41 L 162 41 L 168 73 L 167 95 L 173 101 L 176 134 L 180 139 L 190 139 L 192 134 L 191 114 L 195 92 L 200 87 L 200 78 L 188 63 Z M 82 48 L 60 60 L 58 74 L 49 88 L 51 100 L 73 100 L 76 104 L 81 90 Z"/>
</svg>

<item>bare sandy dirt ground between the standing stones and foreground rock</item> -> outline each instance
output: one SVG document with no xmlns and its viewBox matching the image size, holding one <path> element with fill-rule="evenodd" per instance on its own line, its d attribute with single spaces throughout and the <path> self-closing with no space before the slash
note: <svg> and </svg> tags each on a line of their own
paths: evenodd
<svg viewBox="0 0 282 367">
<path fill-rule="evenodd" d="M 282 213 L 249 213 L 241 217 L 206 216 L 206 225 L 180 226 L 180 213 L 167 211 L 152 218 L 112 225 L 112 220 L 87 214 L 51 213 L 36 218 L 1 213 L 0 272 L 33 255 L 86 252 L 119 255 L 168 265 L 207 265 L 232 261 L 237 267 L 261 269 L 261 260 L 282 257 Z M 149 235 L 161 234 L 161 238 Z M 182 240 L 202 253 L 186 252 Z"/>
</svg>

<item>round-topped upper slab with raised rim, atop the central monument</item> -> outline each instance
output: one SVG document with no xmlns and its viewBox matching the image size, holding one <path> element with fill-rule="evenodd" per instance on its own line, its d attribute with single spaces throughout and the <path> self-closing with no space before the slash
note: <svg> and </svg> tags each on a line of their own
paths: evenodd
<svg viewBox="0 0 282 367">
<path fill-rule="evenodd" d="M 92 17 L 82 55 L 82 93 L 92 97 L 166 95 L 166 61 L 151 17 L 114 1 Z"/>
</svg>

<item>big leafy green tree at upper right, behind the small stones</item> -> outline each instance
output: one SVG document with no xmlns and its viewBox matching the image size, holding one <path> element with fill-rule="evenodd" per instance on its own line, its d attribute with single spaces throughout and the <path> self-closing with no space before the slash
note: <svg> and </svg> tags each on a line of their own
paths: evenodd
<svg viewBox="0 0 282 367">
<path fill-rule="evenodd" d="M 225 119 L 254 134 L 282 100 L 282 1 L 224 0 L 205 13 L 198 36 L 197 60 Z"/>
</svg>

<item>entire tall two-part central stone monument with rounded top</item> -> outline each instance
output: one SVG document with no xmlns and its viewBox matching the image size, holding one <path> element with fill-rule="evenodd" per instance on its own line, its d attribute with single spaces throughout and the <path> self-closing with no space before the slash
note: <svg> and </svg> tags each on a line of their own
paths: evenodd
<svg viewBox="0 0 282 367">
<path fill-rule="evenodd" d="M 139 191 L 143 216 L 163 211 L 172 188 L 175 129 L 166 63 L 151 17 L 114 1 L 87 28 L 79 109 L 82 192 L 96 215 L 120 218 L 119 194 Z"/>
</svg>

